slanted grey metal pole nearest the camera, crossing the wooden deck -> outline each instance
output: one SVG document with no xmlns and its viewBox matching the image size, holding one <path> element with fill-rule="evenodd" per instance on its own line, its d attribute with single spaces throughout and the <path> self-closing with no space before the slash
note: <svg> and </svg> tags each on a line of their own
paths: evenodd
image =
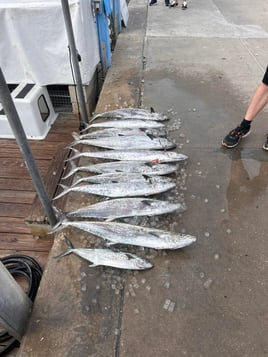
<svg viewBox="0 0 268 357">
<path fill-rule="evenodd" d="M 15 104 L 11 98 L 8 86 L 6 84 L 2 69 L 0 67 L 0 102 L 4 108 L 9 125 L 15 135 L 22 156 L 27 164 L 28 171 L 33 180 L 36 192 L 47 214 L 50 225 L 53 227 L 57 223 L 53 207 L 50 203 L 42 177 L 39 174 L 31 148 L 21 124 Z"/>
</svg>

